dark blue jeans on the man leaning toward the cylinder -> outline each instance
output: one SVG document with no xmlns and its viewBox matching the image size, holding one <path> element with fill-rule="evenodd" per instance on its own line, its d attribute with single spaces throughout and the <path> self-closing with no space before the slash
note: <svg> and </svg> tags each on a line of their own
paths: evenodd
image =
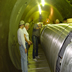
<svg viewBox="0 0 72 72">
<path fill-rule="evenodd" d="M 35 56 L 38 56 L 38 37 L 32 36 L 32 42 L 33 42 L 33 59 Z"/>
</svg>

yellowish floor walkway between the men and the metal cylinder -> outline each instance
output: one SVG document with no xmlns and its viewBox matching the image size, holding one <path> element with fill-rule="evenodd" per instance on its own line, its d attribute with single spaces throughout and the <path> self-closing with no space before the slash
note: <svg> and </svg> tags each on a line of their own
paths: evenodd
<svg viewBox="0 0 72 72">
<path fill-rule="evenodd" d="M 40 58 L 37 59 L 37 62 L 32 59 L 32 50 L 33 45 L 31 45 L 28 50 L 28 72 L 51 72 L 41 46 L 39 45 L 38 52 Z"/>
</svg>

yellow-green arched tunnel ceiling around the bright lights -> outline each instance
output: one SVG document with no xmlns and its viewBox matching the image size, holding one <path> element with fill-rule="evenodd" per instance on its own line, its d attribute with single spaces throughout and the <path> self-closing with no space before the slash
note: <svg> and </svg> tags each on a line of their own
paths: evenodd
<svg viewBox="0 0 72 72">
<path fill-rule="evenodd" d="M 38 4 L 40 4 L 42 9 L 42 14 L 39 14 Z M 53 15 L 51 16 L 51 13 Z M 72 17 L 72 5 L 70 0 L 45 0 L 45 6 L 41 4 L 41 0 L 31 0 L 27 5 L 22 19 L 26 22 L 30 21 L 45 21 L 49 18 L 51 21 L 55 21 L 56 18 L 62 19 L 64 17 Z M 41 18 L 41 19 L 40 19 Z"/>
</svg>

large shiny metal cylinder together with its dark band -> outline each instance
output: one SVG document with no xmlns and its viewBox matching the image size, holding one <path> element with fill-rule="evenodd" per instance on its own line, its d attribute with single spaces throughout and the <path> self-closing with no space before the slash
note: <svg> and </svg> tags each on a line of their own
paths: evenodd
<svg viewBox="0 0 72 72">
<path fill-rule="evenodd" d="M 63 72 L 63 55 L 71 43 L 71 31 L 71 24 L 48 24 L 41 29 L 41 45 L 52 72 Z"/>
</svg>

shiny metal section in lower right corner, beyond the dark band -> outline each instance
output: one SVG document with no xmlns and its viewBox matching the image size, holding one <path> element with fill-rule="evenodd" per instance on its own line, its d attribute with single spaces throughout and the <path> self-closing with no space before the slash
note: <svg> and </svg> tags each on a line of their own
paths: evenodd
<svg viewBox="0 0 72 72">
<path fill-rule="evenodd" d="M 72 43 L 67 46 L 64 52 L 60 72 L 72 72 Z"/>
</svg>

